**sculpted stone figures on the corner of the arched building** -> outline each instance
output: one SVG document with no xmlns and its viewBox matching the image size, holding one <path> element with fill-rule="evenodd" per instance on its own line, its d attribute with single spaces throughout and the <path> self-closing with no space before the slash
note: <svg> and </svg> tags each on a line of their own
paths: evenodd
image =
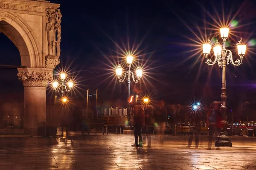
<svg viewBox="0 0 256 170">
<path fill-rule="evenodd" d="M 61 54 L 61 11 L 59 9 L 47 8 L 47 42 L 48 55 L 46 57 L 46 68 L 55 68 L 59 64 Z M 57 40 L 56 40 L 57 32 Z"/>
</svg>

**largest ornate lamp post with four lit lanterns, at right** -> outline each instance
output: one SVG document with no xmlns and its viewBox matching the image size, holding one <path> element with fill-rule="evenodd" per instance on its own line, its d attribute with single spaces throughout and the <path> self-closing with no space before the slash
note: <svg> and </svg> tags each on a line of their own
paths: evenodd
<svg viewBox="0 0 256 170">
<path fill-rule="evenodd" d="M 222 85 L 221 85 L 221 125 L 222 130 L 220 135 L 217 137 L 217 140 L 215 141 L 215 146 L 230 146 L 232 147 L 232 142 L 230 141 L 230 138 L 227 134 L 227 107 L 226 107 L 226 65 L 232 64 L 234 66 L 239 66 L 242 64 L 245 51 L 246 51 L 246 45 L 242 44 L 242 39 L 239 41 L 237 45 L 237 51 L 240 59 L 233 60 L 233 55 L 230 50 L 227 50 L 225 47 L 226 40 L 229 33 L 229 28 L 221 28 L 221 38 L 222 38 L 222 45 L 218 42 L 215 42 L 213 47 L 213 53 L 215 56 L 215 59 L 212 61 L 212 59 L 207 58 L 208 54 L 210 54 L 212 43 L 210 42 L 209 38 L 208 43 L 203 44 L 203 53 L 204 58 L 206 60 L 206 63 L 208 65 L 215 65 L 218 64 L 219 67 L 222 68 Z"/>
</svg>

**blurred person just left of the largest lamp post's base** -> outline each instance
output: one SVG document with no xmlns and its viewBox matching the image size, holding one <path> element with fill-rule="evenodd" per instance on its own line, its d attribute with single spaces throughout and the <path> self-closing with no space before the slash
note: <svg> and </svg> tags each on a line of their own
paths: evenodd
<svg viewBox="0 0 256 170">
<path fill-rule="evenodd" d="M 221 109 L 220 103 L 212 102 L 210 111 L 207 114 L 207 126 L 209 128 L 209 142 L 207 150 L 211 150 L 213 134 L 218 136 L 220 133 Z M 216 148 L 219 150 L 219 147 Z"/>
</svg>

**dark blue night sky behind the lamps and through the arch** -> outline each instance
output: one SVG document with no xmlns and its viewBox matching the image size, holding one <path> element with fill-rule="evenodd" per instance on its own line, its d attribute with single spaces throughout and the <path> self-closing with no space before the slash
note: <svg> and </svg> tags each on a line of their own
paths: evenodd
<svg viewBox="0 0 256 170">
<path fill-rule="evenodd" d="M 224 12 L 225 22 L 233 21 L 228 48 L 234 58 L 241 37 L 248 45 L 243 64 L 237 68 L 227 66 L 228 105 L 237 107 L 255 100 L 255 0 L 81 2 L 51 0 L 61 4 L 63 14 L 61 64 L 57 70 L 69 68 L 70 74 L 76 76 L 78 99 L 86 99 L 87 88 L 92 94 L 98 88 L 101 102 L 125 100 L 127 83 L 117 82 L 113 65 L 122 60 L 117 45 L 123 50 L 134 45 L 140 51 L 137 61 L 144 65 L 146 76 L 136 86 L 132 83 L 132 91 L 151 93 L 152 98 L 167 103 L 201 99 L 208 104 L 220 100 L 221 68 L 204 63 L 201 45 L 207 36 L 221 41 L 216 22 L 223 23 Z M 21 64 L 19 51 L 4 34 L 0 34 L 0 51 L 0 64 Z M 0 70 L 0 79 L 0 95 L 6 96 L 6 100 L 9 97 L 12 101 L 22 101 L 23 86 L 17 79 L 17 70 Z M 51 94 L 47 90 L 49 98 Z"/>
</svg>

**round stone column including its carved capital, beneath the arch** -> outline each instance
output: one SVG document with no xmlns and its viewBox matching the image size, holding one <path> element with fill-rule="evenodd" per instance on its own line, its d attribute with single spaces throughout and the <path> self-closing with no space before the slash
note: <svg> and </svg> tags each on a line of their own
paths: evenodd
<svg viewBox="0 0 256 170">
<path fill-rule="evenodd" d="M 18 68 L 24 86 L 24 134 L 45 136 L 46 88 L 52 81 L 51 68 Z"/>
</svg>

